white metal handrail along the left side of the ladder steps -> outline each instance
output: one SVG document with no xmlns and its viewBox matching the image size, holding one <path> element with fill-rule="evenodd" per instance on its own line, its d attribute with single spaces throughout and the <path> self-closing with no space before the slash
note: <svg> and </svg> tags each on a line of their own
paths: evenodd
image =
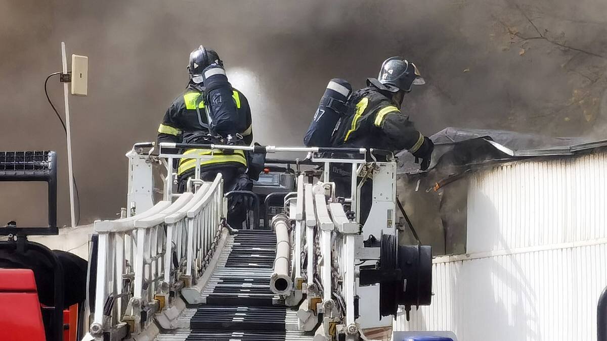
<svg viewBox="0 0 607 341">
<path fill-rule="evenodd" d="M 192 262 L 200 265 L 200 254 L 212 253 L 210 235 L 204 245 L 194 241 L 203 230 L 217 234 L 223 206 L 218 174 L 213 183 L 203 183 L 195 194 L 180 194 L 173 203 L 160 201 L 133 217 L 96 221 L 97 292 L 90 334 L 98 340 L 120 328 L 137 334 L 155 312 L 170 308 L 179 295 L 169 293 L 193 283 L 183 277 L 192 276 Z"/>
</svg>

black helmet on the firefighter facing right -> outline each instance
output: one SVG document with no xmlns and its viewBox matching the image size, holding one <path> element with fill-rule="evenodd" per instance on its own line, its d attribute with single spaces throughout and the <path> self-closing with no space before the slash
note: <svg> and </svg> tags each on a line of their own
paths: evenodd
<svg viewBox="0 0 607 341">
<path fill-rule="evenodd" d="M 415 64 L 402 57 L 385 59 L 379 70 L 378 80 L 390 92 L 398 92 L 398 90 L 410 92 L 413 84 L 426 84 Z"/>
</svg>

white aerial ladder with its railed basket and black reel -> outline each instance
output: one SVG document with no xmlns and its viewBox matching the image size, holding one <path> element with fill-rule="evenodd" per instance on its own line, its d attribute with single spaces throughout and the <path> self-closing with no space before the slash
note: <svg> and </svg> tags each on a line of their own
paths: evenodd
<svg viewBox="0 0 607 341">
<path fill-rule="evenodd" d="M 226 193 L 221 174 L 202 181 L 200 163 L 212 155 L 188 155 L 195 175 L 185 192 L 173 191 L 173 160 L 184 155 L 167 150 L 191 148 L 302 158 L 280 161 L 296 167 L 280 212 L 270 220 L 256 212 L 248 228 L 234 228 L 227 197 L 254 194 Z M 398 244 L 390 152 L 138 143 L 126 156 L 127 209 L 93 226 L 83 340 L 380 339 L 402 307 L 430 303 L 430 247 Z M 333 164 L 351 170 L 350 195 L 338 195 Z"/>
</svg>

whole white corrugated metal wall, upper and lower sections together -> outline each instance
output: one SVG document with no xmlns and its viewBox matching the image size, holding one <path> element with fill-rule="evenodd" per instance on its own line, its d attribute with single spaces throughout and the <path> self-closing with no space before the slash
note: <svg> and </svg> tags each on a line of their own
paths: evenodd
<svg viewBox="0 0 607 341">
<path fill-rule="evenodd" d="M 594 340 L 607 286 L 605 154 L 495 167 L 472 178 L 469 254 L 435 259 L 433 303 L 396 330 L 460 341 Z"/>
</svg>

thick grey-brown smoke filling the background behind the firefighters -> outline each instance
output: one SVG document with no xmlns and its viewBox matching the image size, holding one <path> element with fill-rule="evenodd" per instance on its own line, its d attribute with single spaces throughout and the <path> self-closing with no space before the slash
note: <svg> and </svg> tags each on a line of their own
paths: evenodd
<svg viewBox="0 0 607 341">
<path fill-rule="evenodd" d="M 607 106 L 605 13 L 603 0 L 2 0 L 1 148 L 58 150 L 67 223 L 64 135 L 42 91 L 62 40 L 89 56 L 90 95 L 70 98 L 83 223 L 124 206 L 124 152 L 155 139 L 197 44 L 249 75 L 241 85 L 260 143 L 301 144 L 328 79 L 363 86 L 391 55 L 427 79 L 404 110 L 428 135 L 446 126 L 596 133 Z M 56 80 L 51 88 L 63 107 Z M 17 213 L 3 209 L 0 222 Z"/>
</svg>

